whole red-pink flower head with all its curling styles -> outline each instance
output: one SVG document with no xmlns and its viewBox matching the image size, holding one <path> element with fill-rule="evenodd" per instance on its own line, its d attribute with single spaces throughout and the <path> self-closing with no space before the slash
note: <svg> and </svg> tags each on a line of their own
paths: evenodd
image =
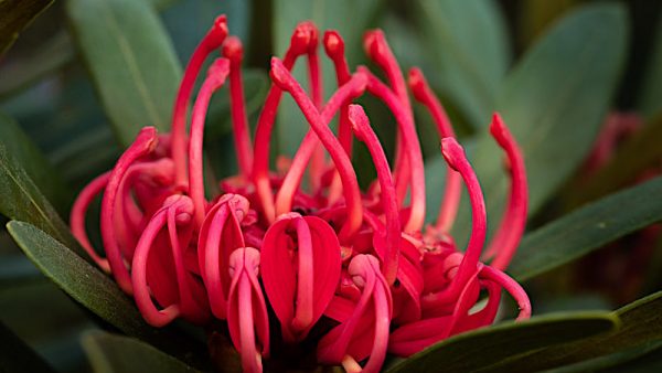
<svg viewBox="0 0 662 373">
<path fill-rule="evenodd" d="M 314 24 L 302 22 L 285 57 L 273 57 L 273 83 L 252 141 L 243 47 L 228 36 L 225 17 L 218 17 L 186 66 L 171 132 L 142 128 L 115 168 L 78 195 L 71 227 L 83 247 L 135 298 L 148 323 L 225 320 L 246 372 L 263 370 L 270 344 L 310 341 L 318 363 L 377 372 L 387 353 L 408 356 L 491 324 L 503 289 L 517 302 L 517 320 L 528 318 L 526 294 L 502 271 L 524 231 L 527 188 L 521 151 L 499 115 L 490 131 L 505 153 L 511 186 L 501 226 L 481 256 L 483 195 L 423 73 L 413 68 L 405 81 L 380 30 L 366 32 L 363 43 L 386 81 L 364 66 L 352 73 L 342 38 L 327 31 L 321 44 L 333 63 L 338 89 L 324 103 L 319 39 Z M 194 83 L 215 50 L 222 57 L 209 68 L 188 126 Z M 308 93 L 290 74 L 300 56 L 308 62 Z M 207 199 L 204 122 L 211 96 L 227 78 L 239 173 L 221 181 L 222 193 Z M 433 116 L 448 163 L 438 220 L 427 226 L 423 156 L 407 86 Z M 274 171 L 269 146 L 284 93 L 310 128 L 296 156 L 280 158 Z M 363 107 L 352 104 L 365 94 L 383 102 L 397 122 L 393 171 Z M 337 115 L 334 134 L 329 125 Z M 366 146 L 376 169 L 367 191 L 360 190 L 352 167 L 354 138 Z M 307 189 L 301 188 L 305 177 Z M 462 181 L 472 231 L 468 246 L 459 251 L 449 230 Z M 88 206 L 98 195 L 105 257 L 94 249 L 85 227 Z"/>
</svg>

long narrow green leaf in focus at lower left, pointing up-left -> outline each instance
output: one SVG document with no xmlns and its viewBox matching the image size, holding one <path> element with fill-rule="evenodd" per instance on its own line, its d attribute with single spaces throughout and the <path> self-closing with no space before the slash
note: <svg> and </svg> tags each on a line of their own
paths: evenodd
<svg viewBox="0 0 662 373">
<path fill-rule="evenodd" d="M 197 365 L 204 364 L 203 345 L 172 329 L 148 326 L 117 285 L 71 249 L 35 226 L 12 221 L 9 233 L 41 271 L 74 300 L 121 332 L 170 351 Z"/>
</svg>

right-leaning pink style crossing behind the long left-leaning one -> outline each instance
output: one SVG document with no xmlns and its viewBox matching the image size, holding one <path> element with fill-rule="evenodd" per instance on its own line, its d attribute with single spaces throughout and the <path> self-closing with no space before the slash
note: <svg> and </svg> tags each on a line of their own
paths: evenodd
<svg viewBox="0 0 662 373">
<path fill-rule="evenodd" d="M 356 73 L 348 84 L 343 85 L 333 94 L 324 106 L 321 113 L 321 120 L 329 125 L 339 108 L 342 108 L 345 103 L 354 97 L 363 94 L 365 89 L 366 79 L 363 74 Z M 282 185 L 278 190 L 276 198 L 276 213 L 278 215 L 287 213 L 291 210 L 292 200 L 296 191 L 301 184 L 301 179 L 306 171 L 306 164 L 308 164 L 312 157 L 313 150 L 319 145 L 319 139 L 313 130 L 309 130 L 299 146 L 299 150 L 295 154 L 289 171 L 282 181 Z"/>
</svg>

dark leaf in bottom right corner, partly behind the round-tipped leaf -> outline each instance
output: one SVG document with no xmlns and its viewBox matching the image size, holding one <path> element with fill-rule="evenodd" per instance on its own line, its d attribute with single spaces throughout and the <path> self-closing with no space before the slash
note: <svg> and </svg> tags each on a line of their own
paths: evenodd
<svg viewBox="0 0 662 373">
<path fill-rule="evenodd" d="M 605 356 L 662 340 L 662 291 L 637 300 L 612 312 L 612 316 L 621 320 L 621 327 L 615 332 L 524 353 L 516 359 L 494 365 L 491 370 L 535 372 Z"/>
</svg>

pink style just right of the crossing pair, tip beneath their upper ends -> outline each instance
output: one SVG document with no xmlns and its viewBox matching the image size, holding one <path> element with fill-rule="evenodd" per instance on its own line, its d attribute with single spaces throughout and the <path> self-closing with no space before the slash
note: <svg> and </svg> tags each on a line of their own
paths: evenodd
<svg viewBox="0 0 662 373">
<path fill-rule="evenodd" d="M 377 139 L 377 136 L 370 126 L 370 121 L 365 111 L 363 111 L 363 107 L 360 105 L 350 105 L 349 118 L 356 138 L 367 146 L 367 150 L 370 151 L 373 162 L 375 163 L 375 169 L 377 170 L 382 209 L 384 210 L 384 216 L 386 219 L 386 255 L 384 257 L 382 273 L 384 274 L 386 284 L 392 286 L 397 276 L 401 226 L 391 168 L 388 167 L 388 161 L 386 160 L 380 139 Z M 375 234 L 380 234 L 380 232 L 375 232 Z"/>
</svg>

